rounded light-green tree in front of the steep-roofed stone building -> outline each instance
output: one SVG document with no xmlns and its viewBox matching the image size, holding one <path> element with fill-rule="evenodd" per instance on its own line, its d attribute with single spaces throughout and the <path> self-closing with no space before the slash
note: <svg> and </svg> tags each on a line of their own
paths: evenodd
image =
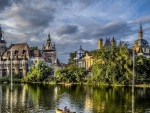
<svg viewBox="0 0 150 113">
<path fill-rule="evenodd" d="M 32 66 L 30 72 L 24 77 L 24 82 L 43 82 L 50 75 L 53 75 L 53 69 L 46 65 L 42 60 L 38 61 L 37 67 Z"/>
</svg>

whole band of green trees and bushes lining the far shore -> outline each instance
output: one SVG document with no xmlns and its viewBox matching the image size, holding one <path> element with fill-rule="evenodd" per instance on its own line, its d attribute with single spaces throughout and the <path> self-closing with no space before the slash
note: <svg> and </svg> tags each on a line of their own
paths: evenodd
<svg viewBox="0 0 150 113">
<path fill-rule="evenodd" d="M 133 62 L 130 57 L 127 44 L 122 42 L 118 46 L 114 43 L 111 47 L 102 47 L 92 51 L 94 63 L 92 76 L 88 76 L 89 70 L 77 67 L 72 63 L 69 67 L 58 69 L 54 76 L 54 69 L 43 61 L 37 66 L 32 66 L 25 77 L 13 75 L 14 82 L 24 83 L 87 83 L 107 85 L 130 85 L 132 83 Z M 74 54 L 70 54 L 74 56 Z M 73 60 L 70 58 L 69 62 Z M 135 82 L 136 84 L 148 84 L 150 78 L 150 58 L 139 55 L 135 57 Z M 0 79 L 0 82 L 10 82 L 10 76 Z"/>
</svg>

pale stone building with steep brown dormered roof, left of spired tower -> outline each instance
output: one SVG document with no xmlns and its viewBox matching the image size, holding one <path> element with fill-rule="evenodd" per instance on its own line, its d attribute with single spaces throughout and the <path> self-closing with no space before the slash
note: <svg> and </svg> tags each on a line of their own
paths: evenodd
<svg viewBox="0 0 150 113">
<path fill-rule="evenodd" d="M 12 51 L 12 58 L 11 52 Z M 32 65 L 36 65 L 41 59 L 39 50 L 30 50 L 27 43 L 11 44 L 7 51 L 0 57 L 0 77 L 11 74 L 11 59 L 12 73 L 25 76 Z"/>
</svg>

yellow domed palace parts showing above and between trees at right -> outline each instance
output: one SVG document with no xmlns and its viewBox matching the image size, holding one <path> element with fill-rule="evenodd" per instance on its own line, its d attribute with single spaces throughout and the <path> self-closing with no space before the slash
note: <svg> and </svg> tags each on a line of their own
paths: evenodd
<svg viewBox="0 0 150 113">
<path fill-rule="evenodd" d="M 110 47 L 113 43 L 116 43 L 115 38 L 106 37 L 106 41 L 103 44 L 103 39 L 98 39 L 98 49 L 101 49 L 103 46 Z M 134 42 L 133 46 L 128 49 L 130 57 L 133 57 L 133 51 L 135 55 L 143 55 L 146 57 L 150 57 L 150 46 L 149 43 L 143 38 L 143 30 L 142 25 L 140 24 L 140 29 L 138 32 L 138 39 Z M 84 67 L 89 70 L 93 64 L 92 54 L 85 53 L 85 51 L 80 46 L 80 49 L 76 53 L 76 57 L 74 58 L 76 65 L 78 67 Z"/>
</svg>

